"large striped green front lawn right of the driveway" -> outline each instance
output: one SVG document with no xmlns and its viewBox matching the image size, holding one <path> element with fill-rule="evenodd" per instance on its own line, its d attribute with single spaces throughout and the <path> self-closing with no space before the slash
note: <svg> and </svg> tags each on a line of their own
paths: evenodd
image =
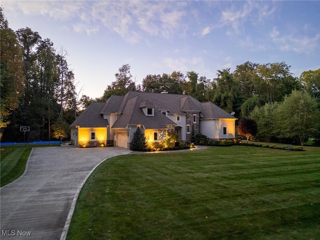
<svg viewBox="0 0 320 240">
<path fill-rule="evenodd" d="M 320 148 L 231 146 L 103 162 L 67 239 L 319 239 Z"/>
</svg>

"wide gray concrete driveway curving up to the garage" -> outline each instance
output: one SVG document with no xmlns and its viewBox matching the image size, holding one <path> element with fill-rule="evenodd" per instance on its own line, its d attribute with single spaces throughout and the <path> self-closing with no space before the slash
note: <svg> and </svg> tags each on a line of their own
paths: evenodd
<svg viewBox="0 0 320 240">
<path fill-rule="evenodd" d="M 119 147 L 33 148 L 23 175 L 0 189 L 0 239 L 63 239 L 88 174 L 104 159 L 129 152 Z"/>
</svg>

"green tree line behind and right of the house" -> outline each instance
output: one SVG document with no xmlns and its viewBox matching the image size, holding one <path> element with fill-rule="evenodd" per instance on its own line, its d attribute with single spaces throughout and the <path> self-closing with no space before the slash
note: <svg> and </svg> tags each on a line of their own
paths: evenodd
<svg viewBox="0 0 320 240">
<path fill-rule="evenodd" d="M 238 119 L 257 122 L 256 137 L 303 145 L 308 138 L 320 138 L 320 69 L 308 70 L 293 77 L 285 62 L 252 63 L 217 70 L 211 79 L 194 71 L 147 74 L 135 84 L 130 65 L 122 65 L 115 81 L 101 97 L 124 95 L 128 91 L 188 94 L 200 102 L 211 101 Z M 93 100 L 93 99 L 91 99 Z M 89 103 L 90 101 L 88 101 Z"/>
</svg>

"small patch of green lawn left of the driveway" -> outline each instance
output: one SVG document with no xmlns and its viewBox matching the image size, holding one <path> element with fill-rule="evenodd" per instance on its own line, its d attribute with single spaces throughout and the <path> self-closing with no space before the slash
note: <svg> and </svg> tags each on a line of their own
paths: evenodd
<svg viewBox="0 0 320 240">
<path fill-rule="evenodd" d="M 1 148 L 0 185 L 1 187 L 21 176 L 32 147 Z"/>
</svg>

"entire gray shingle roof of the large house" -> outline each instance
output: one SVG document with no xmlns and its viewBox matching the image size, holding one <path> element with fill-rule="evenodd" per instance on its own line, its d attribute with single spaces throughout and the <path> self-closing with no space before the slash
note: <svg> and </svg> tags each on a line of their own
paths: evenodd
<svg viewBox="0 0 320 240">
<path fill-rule="evenodd" d="M 154 106 L 154 116 L 145 116 L 141 107 Z M 168 113 L 185 114 L 186 111 L 198 111 L 201 119 L 233 118 L 212 102 L 199 102 L 195 98 L 182 94 L 163 94 L 152 92 L 129 91 L 124 96 L 112 95 L 106 102 L 92 102 L 85 111 L 71 124 L 71 127 L 107 126 L 102 113 L 122 112 L 112 127 L 126 127 L 128 124 L 143 124 L 145 128 L 166 128 L 175 123 L 159 110 Z"/>
</svg>

